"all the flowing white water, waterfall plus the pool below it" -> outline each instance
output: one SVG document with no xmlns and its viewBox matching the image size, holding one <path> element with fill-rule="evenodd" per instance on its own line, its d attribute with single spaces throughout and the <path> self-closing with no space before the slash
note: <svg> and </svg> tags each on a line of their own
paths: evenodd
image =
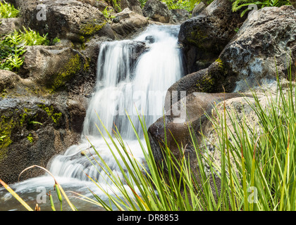
<svg viewBox="0 0 296 225">
<path fill-rule="evenodd" d="M 97 85 L 87 109 L 80 144 L 71 146 L 63 155 L 56 155 L 47 167 L 65 190 L 91 197 L 90 188 L 104 199 L 104 193 L 86 176 L 88 174 L 97 179 L 106 188 L 110 185 L 110 181 L 100 174 L 100 168 L 94 167 L 85 156 L 95 155 L 90 143 L 113 172 L 122 176 L 106 144 L 111 145 L 111 141 L 104 141 L 99 130 L 106 136 L 107 132 L 112 134 L 113 129 L 118 129 L 135 158 L 140 162 L 144 160 L 126 114 L 140 135 L 142 127 L 138 115 L 144 115 L 147 127 L 163 115 L 167 89 L 183 76 L 183 62 L 178 49 L 179 28 L 178 25 L 151 25 L 135 39 L 101 44 Z M 98 158 L 96 160 L 99 161 Z M 11 188 L 27 203 L 31 203 L 31 207 L 35 207 L 39 201 L 42 210 L 50 210 L 50 204 L 45 203 L 49 200 L 44 200 L 44 194 L 49 190 L 53 192 L 53 185 L 51 176 L 44 175 L 12 184 Z M 78 210 L 100 210 L 82 200 L 71 200 Z M 66 207 L 67 204 L 63 205 Z M 0 188 L 1 210 L 24 208 L 10 193 Z"/>
</svg>

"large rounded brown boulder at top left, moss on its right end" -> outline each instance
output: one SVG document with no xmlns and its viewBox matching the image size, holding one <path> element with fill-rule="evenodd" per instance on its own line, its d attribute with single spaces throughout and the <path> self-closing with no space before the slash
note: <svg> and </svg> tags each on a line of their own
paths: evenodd
<svg viewBox="0 0 296 225">
<path fill-rule="evenodd" d="M 49 38 L 84 42 L 99 33 L 106 21 L 98 8 L 75 0 L 23 1 L 24 24 Z"/>
</svg>

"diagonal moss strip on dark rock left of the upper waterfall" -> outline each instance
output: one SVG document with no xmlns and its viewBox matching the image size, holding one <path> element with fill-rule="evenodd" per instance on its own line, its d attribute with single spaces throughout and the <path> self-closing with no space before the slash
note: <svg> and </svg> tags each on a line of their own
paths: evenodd
<svg viewBox="0 0 296 225">
<path fill-rule="evenodd" d="M 61 86 L 64 86 L 68 80 L 75 75 L 80 69 L 82 68 L 82 62 L 80 60 L 80 56 L 76 54 L 70 60 L 68 60 L 68 63 L 61 68 L 61 70 L 58 72 L 58 75 L 54 78 L 54 81 L 51 82 L 51 92 L 55 91 L 56 89 L 60 88 Z"/>
</svg>

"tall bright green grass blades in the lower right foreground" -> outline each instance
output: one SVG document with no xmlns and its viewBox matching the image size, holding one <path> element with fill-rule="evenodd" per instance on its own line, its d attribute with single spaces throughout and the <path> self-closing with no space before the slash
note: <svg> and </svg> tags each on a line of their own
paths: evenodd
<svg viewBox="0 0 296 225">
<path fill-rule="evenodd" d="M 245 101 L 252 108 L 257 122 L 250 123 L 245 114 L 238 120 L 238 113 L 225 103 L 220 105 L 222 112 L 217 106 L 216 116 L 209 116 L 219 160 L 214 160 L 214 154 L 209 151 L 204 154 L 208 142 L 206 136 L 198 142 L 190 128 L 196 158 L 188 158 L 183 146 L 179 146 L 180 156 L 176 158 L 165 140 L 164 158 L 161 163 L 156 163 L 144 118 L 139 117 L 144 143 L 135 128 L 134 131 L 145 164 L 135 160 L 118 130 L 113 135 L 106 130 L 113 143 L 109 146 L 111 153 L 115 158 L 119 153 L 124 162 L 121 165 L 116 159 L 124 177 L 119 178 L 101 158 L 103 164 L 98 165 L 109 174 L 116 190 L 106 191 L 90 177 L 109 198 L 109 203 L 105 203 L 94 194 L 95 203 L 106 210 L 296 210 L 295 84 L 290 82 L 288 90 L 284 90 L 278 80 L 276 96 L 264 92 L 266 107 L 262 105 L 263 98 L 259 98 L 255 91 L 252 94 L 254 101 L 249 98 Z M 190 167 L 193 160 L 197 162 L 197 169 Z M 208 171 L 206 167 L 209 167 Z M 121 195 L 114 194 L 118 191 Z"/>
</svg>

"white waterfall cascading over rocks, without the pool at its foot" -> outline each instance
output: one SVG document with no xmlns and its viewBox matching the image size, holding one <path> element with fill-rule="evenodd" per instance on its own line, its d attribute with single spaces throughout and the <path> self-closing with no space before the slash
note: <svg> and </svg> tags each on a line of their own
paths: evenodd
<svg viewBox="0 0 296 225">
<path fill-rule="evenodd" d="M 140 135 L 142 127 L 137 113 L 144 115 L 147 127 L 163 115 L 166 91 L 183 75 L 178 29 L 178 26 L 154 25 L 134 40 L 112 41 L 101 45 L 97 85 L 83 124 L 82 143 L 71 146 L 64 155 L 57 155 L 51 160 L 50 171 L 53 174 L 87 180 L 86 173 L 100 179 L 90 160 L 80 154 L 83 150 L 92 153 L 86 137 L 99 150 L 104 161 L 109 163 L 109 167 L 121 174 L 99 133 L 100 129 L 106 135 L 104 127 L 110 134 L 112 129 L 117 128 L 132 154 L 139 161 L 143 160 L 142 149 L 126 113 Z M 142 53 L 135 60 L 139 52 Z"/>
</svg>

